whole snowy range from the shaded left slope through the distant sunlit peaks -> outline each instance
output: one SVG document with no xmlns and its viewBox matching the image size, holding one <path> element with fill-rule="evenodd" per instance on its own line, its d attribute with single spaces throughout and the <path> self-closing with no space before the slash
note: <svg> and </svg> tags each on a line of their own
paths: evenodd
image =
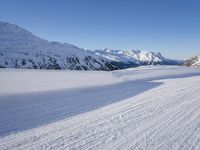
<svg viewBox="0 0 200 150">
<path fill-rule="evenodd" d="M 139 50 L 84 50 L 49 42 L 17 25 L 0 22 L 0 68 L 117 70 L 155 64 L 180 62 Z"/>
</svg>

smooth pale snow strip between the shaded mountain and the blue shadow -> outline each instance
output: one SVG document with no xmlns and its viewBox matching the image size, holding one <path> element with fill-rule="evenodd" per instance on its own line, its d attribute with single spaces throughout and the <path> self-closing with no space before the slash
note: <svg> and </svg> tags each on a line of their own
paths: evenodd
<svg viewBox="0 0 200 150">
<path fill-rule="evenodd" d="M 0 74 L 0 95 L 101 86 L 120 81 L 104 71 L 0 69 Z"/>
</svg>

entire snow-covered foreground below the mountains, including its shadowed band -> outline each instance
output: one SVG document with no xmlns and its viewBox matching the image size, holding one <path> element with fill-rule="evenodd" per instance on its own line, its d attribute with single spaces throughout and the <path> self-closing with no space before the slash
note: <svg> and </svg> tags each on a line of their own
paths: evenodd
<svg viewBox="0 0 200 150">
<path fill-rule="evenodd" d="M 200 70 L 0 70 L 0 149 L 200 149 Z"/>
</svg>

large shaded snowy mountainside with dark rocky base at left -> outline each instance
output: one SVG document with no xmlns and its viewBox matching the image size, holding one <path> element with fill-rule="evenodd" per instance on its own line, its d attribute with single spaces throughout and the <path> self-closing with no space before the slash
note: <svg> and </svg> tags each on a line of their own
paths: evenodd
<svg viewBox="0 0 200 150">
<path fill-rule="evenodd" d="M 115 70 L 103 57 L 67 43 L 49 42 L 0 22 L 0 68 Z"/>
</svg>

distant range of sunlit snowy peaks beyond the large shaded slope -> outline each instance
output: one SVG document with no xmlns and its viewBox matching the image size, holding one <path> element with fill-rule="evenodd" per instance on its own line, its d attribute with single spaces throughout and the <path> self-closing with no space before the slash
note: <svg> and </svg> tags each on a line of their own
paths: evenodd
<svg viewBox="0 0 200 150">
<path fill-rule="evenodd" d="M 92 53 L 105 57 L 115 62 L 124 62 L 130 66 L 141 65 L 180 65 L 182 61 L 170 60 L 159 52 L 147 52 L 140 50 L 92 50 Z"/>
</svg>

